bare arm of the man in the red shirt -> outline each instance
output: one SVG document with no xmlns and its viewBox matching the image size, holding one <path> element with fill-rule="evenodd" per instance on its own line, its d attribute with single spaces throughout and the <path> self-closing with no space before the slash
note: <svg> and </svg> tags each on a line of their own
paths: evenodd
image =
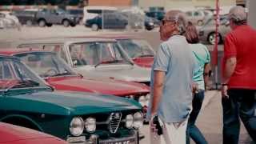
<svg viewBox="0 0 256 144">
<path fill-rule="evenodd" d="M 236 65 L 237 65 L 237 58 L 231 57 L 226 59 L 222 83 L 227 83 L 230 80 L 230 77 L 234 73 L 234 69 Z"/>
</svg>

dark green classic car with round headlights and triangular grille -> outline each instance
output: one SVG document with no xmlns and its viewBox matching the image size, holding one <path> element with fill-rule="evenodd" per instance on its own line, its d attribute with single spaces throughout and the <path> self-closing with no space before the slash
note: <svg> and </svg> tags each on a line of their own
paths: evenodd
<svg viewBox="0 0 256 144">
<path fill-rule="evenodd" d="M 60 92 L 18 58 L 0 55 L 0 121 L 39 130 L 67 142 L 139 142 L 142 106 L 111 95 Z"/>
</svg>

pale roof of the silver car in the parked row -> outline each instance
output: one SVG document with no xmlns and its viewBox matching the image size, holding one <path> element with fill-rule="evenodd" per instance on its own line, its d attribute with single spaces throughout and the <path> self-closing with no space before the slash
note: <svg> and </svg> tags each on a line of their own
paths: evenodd
<svg viewBox="0 0 256 144">
<path fill-rule="evenodd" d="M 90 38 L 90 37 L 69 37 L 69 38 L 34 38 L 23 39 L 15 43 L 18 45 L 35 44 L 35 43 L 79 43 L 79 42 L 116 42 L 113 38 Z"/>
</svg>

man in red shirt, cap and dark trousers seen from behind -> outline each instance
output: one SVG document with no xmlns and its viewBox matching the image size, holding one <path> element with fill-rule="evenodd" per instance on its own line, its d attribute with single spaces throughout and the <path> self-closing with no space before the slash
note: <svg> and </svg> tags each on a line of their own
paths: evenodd
<svg viewBox="0 0 256 144">
<path fill-rule="evenodd" d="M 256 30 L 246 24 L 242 6 L 230 10 L 229 20 L 222 59 L 223 143 L 238 143 L 239 117 L 256 142 Z"/>
</svg>

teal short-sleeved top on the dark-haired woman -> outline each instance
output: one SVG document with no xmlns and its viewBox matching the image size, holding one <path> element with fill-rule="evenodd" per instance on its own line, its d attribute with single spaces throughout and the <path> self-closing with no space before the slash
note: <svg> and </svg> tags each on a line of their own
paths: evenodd
<svg viewBox="0 0 256 144">
<path fill-rule="evenodd" d="M 190 50 L 194 54 L 194 58 L 198 63 L 196 70 L 194 70 L 193 80 L 197 82 L 198 88 L 205 90 L 205 82 L 203 79 L 204 66 L 210 62 L 210 53 L 205 45 L 201 43 L 190 44 Z"/>
</svg>

